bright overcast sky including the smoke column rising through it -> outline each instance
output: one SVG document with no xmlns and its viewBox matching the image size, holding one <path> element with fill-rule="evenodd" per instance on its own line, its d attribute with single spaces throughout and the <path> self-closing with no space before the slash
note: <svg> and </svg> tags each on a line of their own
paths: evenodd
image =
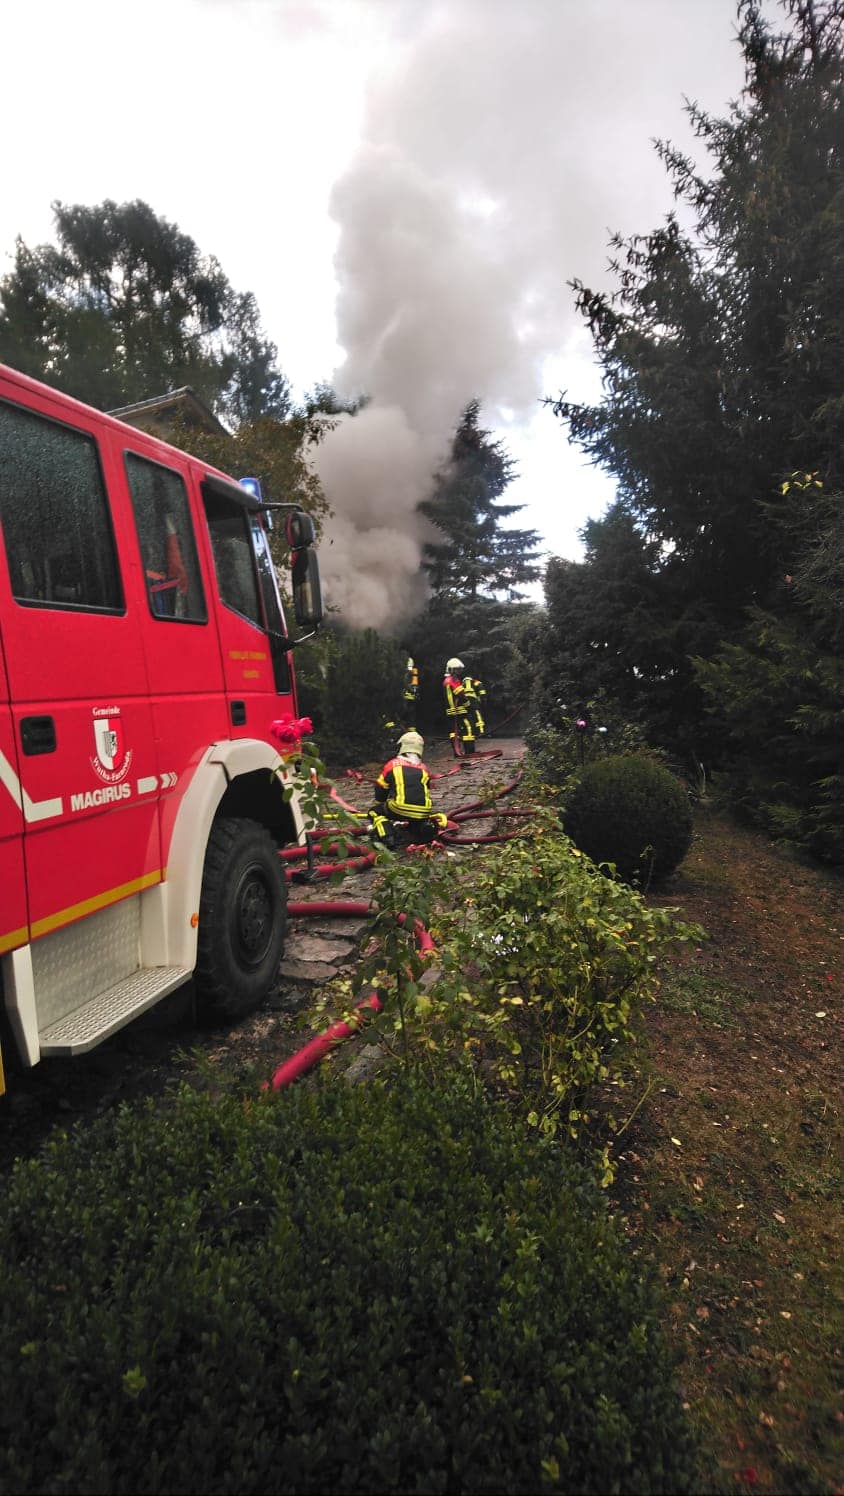
<svg viewBox="0 0 844 1496">
<path fill-rule="evenodd" d="M 0 274 L 54 199 L 142 197 L 254 292 L 296 395 L 368 392 L 320 458 L 323 565 L 382 622 L 473 396 L 515 524 L 581 554 L 612 485 L 540 404 L 599 390 L 567 281 L 664 218 L 652 139 L 694 150 L 684 96 L 727 112 L 735 31 L 735 0 L 10 0 Z"/>
</svg>

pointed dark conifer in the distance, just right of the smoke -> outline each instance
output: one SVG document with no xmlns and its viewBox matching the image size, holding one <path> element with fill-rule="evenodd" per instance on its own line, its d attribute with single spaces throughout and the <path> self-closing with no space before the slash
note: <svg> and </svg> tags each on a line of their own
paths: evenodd
<svg viewBox="0 0 844 1496">
<path fill-rule="evenodd" d="M 425 545 L 422 561 L 434 595 L 513 600 L 522 595 L 519 588 L 539 577 L 537 533 L 501 528 L 501 521 L 524 507 L 501 503 L 513 468 L 503 443 L 492 441 L 480 426 L 480 405 L 471 401 L 431 498 L 419 504 L 440 536 Z"/>
</svg>

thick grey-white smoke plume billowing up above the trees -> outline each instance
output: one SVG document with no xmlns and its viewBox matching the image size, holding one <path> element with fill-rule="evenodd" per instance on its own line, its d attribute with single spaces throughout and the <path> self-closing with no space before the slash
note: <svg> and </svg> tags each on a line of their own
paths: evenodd
<svg viewBox="0 0 844 1496">
<path fill-rule="evenodd" d="M 579 332 L 567 281 L 600 283 L 611 229 L 663 217 L 651 138 L 688 144 L 682 93 L 723 70 L 732 33 L 720 0 L 385 12 L 395 33 L 331 205 L 346 350 L 332 383 L 370 404 L 338 422 L 314 465 L 335 512 L 328 600 L 353 627 L 391 630 L 425 594 L 416 504 L 462 410 L 479 398 L 506 444 L 501 428 L 555 393 L 543 365 Z"/>
</svg>

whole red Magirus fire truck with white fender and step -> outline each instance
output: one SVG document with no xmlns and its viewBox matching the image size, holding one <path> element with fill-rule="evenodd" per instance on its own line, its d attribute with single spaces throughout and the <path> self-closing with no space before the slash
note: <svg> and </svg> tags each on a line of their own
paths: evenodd
<svg viewBox="0 0 844 1496">
<path fill-rule="evenodd" d="M 298 706 L 266 507 L 0 365 L 0 996 L 25 1065 L 189 978 L 235 1017 L 277 977 L 304 826 L 269 736 Z M 313 630 L 313 522 L 278 507 Z"/>
</svg>

